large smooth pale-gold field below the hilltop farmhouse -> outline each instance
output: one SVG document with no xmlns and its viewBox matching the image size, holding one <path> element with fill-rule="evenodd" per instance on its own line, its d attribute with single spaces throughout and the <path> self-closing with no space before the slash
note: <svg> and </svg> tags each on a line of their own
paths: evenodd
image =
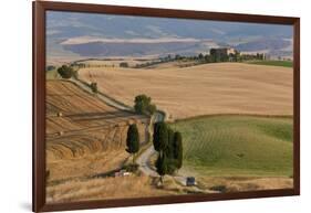
<svg viewBox="0 0 311 213">
<path fill-rule="evenodd" d="M 173 119 L 211 114 L 292 115 L 293 72 L 289 67 L 214 63 L 167 68 L 82 68 L 80 77 L 133 105 L 153 98 Z M 183 106 L 183 107 L 180 107 Z"/>
</svg>

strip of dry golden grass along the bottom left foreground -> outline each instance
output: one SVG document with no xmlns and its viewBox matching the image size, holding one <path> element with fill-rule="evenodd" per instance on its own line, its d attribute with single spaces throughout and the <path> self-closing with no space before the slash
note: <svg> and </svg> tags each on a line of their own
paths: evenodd
<svg viewBox="0 0 311 213">
<path fill-rule="evenodd" d="M 131 175 L 105 179 L 72 180 L 48 188 L 50 203 L 86 200 L 146 198 L 178 194 L 178 189 L 158 189 L 147 175 Z"/>
</svg>

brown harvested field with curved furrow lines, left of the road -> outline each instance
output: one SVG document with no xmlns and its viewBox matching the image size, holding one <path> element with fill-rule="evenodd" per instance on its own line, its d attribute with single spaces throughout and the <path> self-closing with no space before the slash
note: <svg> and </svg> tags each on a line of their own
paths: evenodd
<svg viewBox="0 0 311 213">
<path fill-rule="evenodd" d="M 46 81 L 49 184 L 120 168 L 129 124 L 146 140 L 148 118 L 111 107 L 69 81 Z"/>
</svg>

